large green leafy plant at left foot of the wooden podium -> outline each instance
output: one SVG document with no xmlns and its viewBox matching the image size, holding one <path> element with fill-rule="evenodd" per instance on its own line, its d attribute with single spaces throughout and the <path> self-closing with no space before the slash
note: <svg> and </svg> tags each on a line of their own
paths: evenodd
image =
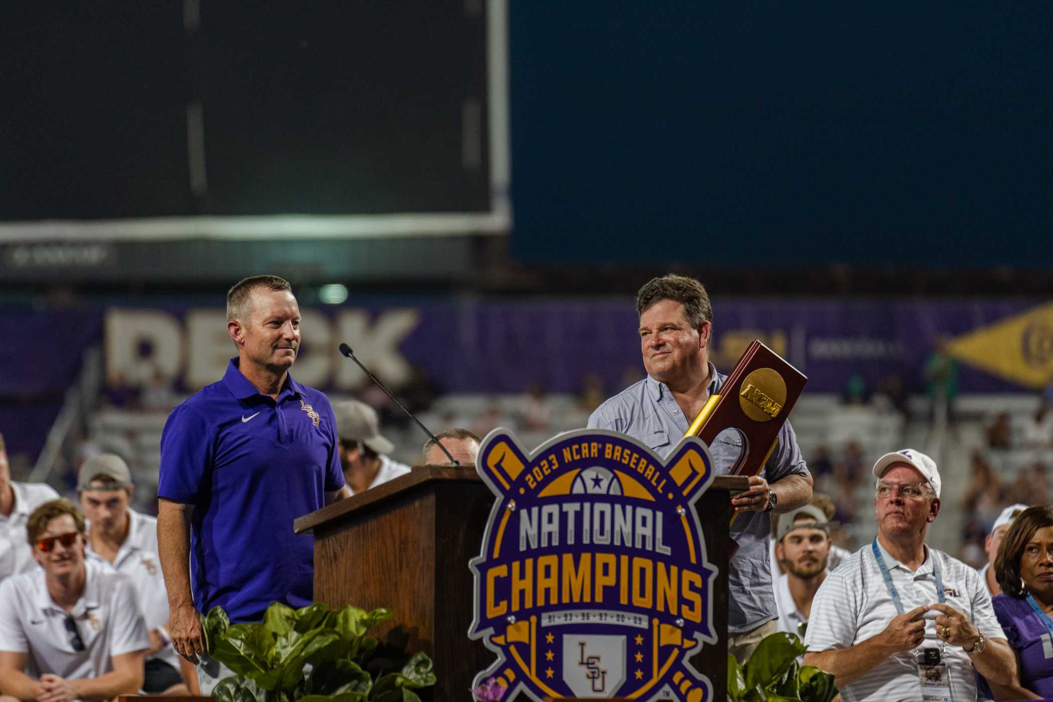
<svg viewBox="0 0 1053 702">
<path fill-rule="evenodd" d="M 389 658 L 365 636 L 391 618 L 383 608 L 275 602 L 262 622 L 231 624 L 214 607 L 201 618 L 205 647 L 236 675 L 213 695 L 218 702 L 419 702 L 414 689 L 435 684 L 432 660 L 422 653 Z"/>
</svg>

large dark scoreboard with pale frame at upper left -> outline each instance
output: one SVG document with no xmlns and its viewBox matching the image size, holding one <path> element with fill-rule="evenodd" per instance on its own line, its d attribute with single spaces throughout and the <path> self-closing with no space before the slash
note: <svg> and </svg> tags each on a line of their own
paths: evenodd
<svg viewBox="0 0 1053 702">
<path fill-rule="evenodd" d="M 503 14 L 489 0 L 2 3 L 0 239 L 48 238 L 56 220 L 66 239 L 128 220 L 208 234 L 198 218 L 277 236 L 276 215 L 300 216 L 290 237 L 318 221 L 383 234 L 392 217 L 402 233 L 429 218 L 501 228 Z"/>
</svg>

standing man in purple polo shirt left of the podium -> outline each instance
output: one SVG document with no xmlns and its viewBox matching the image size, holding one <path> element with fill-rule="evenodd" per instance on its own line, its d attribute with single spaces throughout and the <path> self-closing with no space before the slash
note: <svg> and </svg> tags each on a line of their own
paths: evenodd
<svg viewBox="0 0 1053 702">
<path fill-rule="evenodd" d="M 293 534 L 293 520 L 350 495 L 329 400 L 289 375 L 300 345 L 290 284 L 242 280 L 226 295 L 226 318 L 238 357 L 172 412 L 161 436 L 168 630 L 195 663 L 199 611 L 219 605 L 231 621 L 259 621 L 275 600 L 311 603 L 314 541 Z"/>
</svg>

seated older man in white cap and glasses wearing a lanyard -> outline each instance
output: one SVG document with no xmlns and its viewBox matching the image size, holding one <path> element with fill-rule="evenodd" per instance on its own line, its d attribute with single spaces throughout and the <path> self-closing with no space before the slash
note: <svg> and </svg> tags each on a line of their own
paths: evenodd
<svg viewBox="0 0 1053 702">
<path fill-rule="evenodd" d="M 925 543 L 939 514 L 935 462 L 907 448 L 873 473 L 877 537 L 819 587 L 804 664 L 833 673 L 846 702 L 975 700 L 974 670 L 1012 681 L 1016 657 L 979 575 Z"/>
</svg>

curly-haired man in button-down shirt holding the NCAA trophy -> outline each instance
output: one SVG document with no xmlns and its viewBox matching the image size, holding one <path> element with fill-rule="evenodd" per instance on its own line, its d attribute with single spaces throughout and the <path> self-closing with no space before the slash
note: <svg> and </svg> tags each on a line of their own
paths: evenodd
<svg viewBox="0 0 1053 702">
<path fill-rule="evenodd" d="M 713 308 L 697 280 L 655 278 L 637 293 L 636 309 L 648 376 L 601 404 L 589 418 L 589 426 L 628 434 L 664 458 L 727 376 L 709 360 Z M 737 430 L 720 434 L 710 446 L 717 475 L 726 475 L 741 450 Z M 740 663 L 776 628 L 768 562 L 769 513 L 790 512 L 811 498 L 812 476 L 786 422 L 764 467 L 750 478 L 750 489 L 732 500 L 741 514 L 731 530 L 738 553 L 728 567 L 728 653 Z"/>
</svg>

